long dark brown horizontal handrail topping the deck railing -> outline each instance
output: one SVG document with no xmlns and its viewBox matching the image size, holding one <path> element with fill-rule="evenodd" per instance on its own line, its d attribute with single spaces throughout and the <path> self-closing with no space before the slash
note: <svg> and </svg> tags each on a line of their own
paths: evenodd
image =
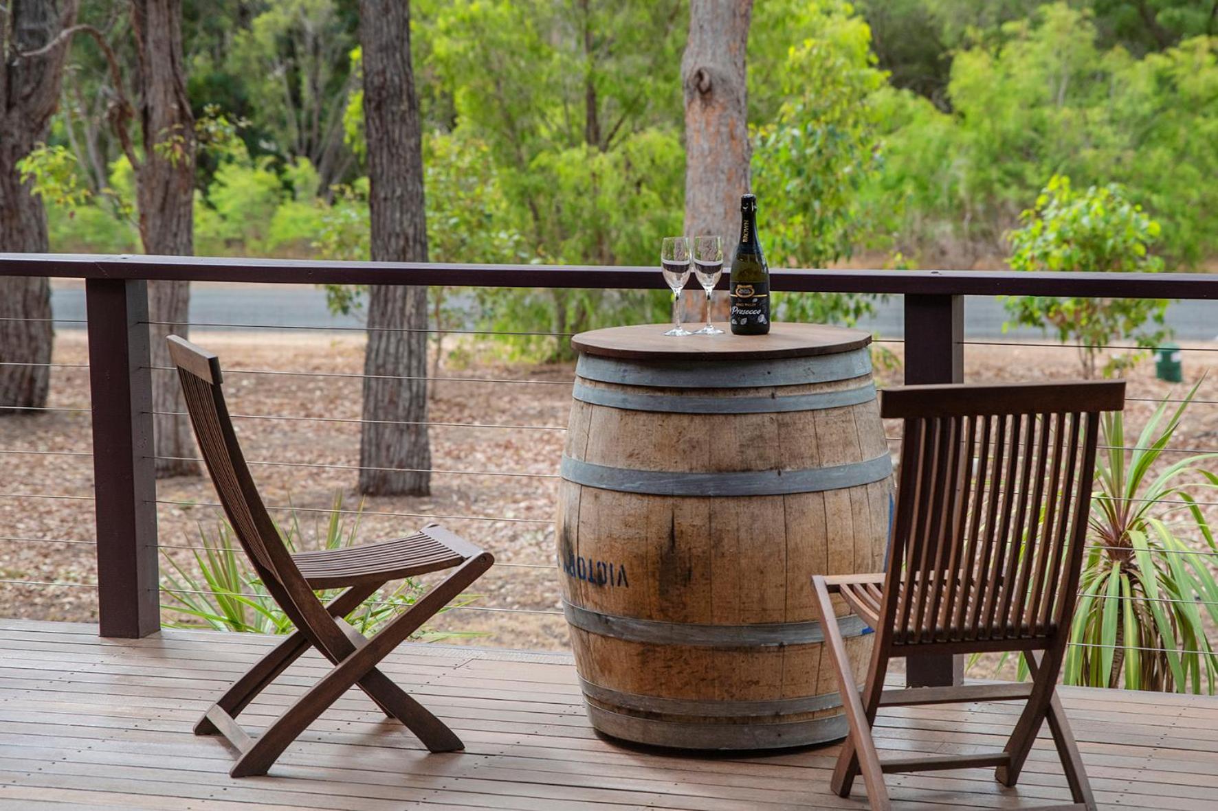
<svg viewBox="0 0 1218 811">
<path fill-rule="evenodd" d="M 258 284 L 664 289 L 653 267 L 323 262 L 94 253 L 0 253 L 0 276 L 169 279 Z M 726 287 L 726 275 L 720 287 Z M 934 296 L 1218 298 L 1212 273 L 804 270 L 772 268 L 775 290 Z"/>
</svg>

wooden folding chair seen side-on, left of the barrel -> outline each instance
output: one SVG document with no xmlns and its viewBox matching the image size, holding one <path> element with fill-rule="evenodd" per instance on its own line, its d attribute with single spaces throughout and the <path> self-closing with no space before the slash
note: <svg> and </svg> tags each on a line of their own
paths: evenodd
<svg viewBox="0 0 1218 811">
<path fill-rule="evenodd" d="M 175 335 L 169 354 L 178 367 L 186 409 L 207 470 L 233 531 L 263 586 L 296 632 L 239 678 L 195 726 L 195 734 L 222 734 L 239 751 L 233 777 L 266 774 L 284 749 L 352 686 L 387 716 L 404 723 L 431 751 L 462 749 L 437 717 L 376 669 L 397 645 L 460 594 L 495 559 L 437 525 L 395 541 L 291 554 L 262 504 L 245 464 L 220 390 L 219 359 Z M 371 638 L 343 621 L 347 614 L 392 580 L 457 567 Z M 345 588 L 323 605 L 314 589 Z M 314 647 L 334 664 L 322 681 L 275 720 L 262 736 L 245 732 L 235 717 L 301 654 Z"/>
</svg>

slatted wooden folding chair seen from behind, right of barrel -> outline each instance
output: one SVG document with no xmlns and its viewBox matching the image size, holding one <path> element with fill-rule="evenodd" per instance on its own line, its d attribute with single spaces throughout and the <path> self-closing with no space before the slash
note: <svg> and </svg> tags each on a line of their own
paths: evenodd
<svg viewBox="0 0 1218 811">
<path fill-rule="evenodd" d="M 1047 718 L 1073 805 L 1095 809 L 1056 682 L 1078 592 L 1100 412 L 1124 407 L 1124 382 L 906 386 L 881 393 L 904 419 L 887 572 L 815 576 L 812 588 L 850 734 L 832 788 L 862 773 L 871 807 L 892 807 L 889 772 L 995 766 L 1015 785 Z M 876 630 L 860 690 L 834 616 L 837 595 Z M 1032 682 L 884 689 L 894 656 L 1022 651 Z M 1023 700 L 1002 751 L 881 760 L 882 706 Z"/>
</svg>

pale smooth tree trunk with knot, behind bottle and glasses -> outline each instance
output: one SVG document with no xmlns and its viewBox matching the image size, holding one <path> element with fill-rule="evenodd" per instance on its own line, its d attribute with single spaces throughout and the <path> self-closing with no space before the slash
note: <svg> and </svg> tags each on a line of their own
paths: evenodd
<svg viewBox="0 0 1218 811">
<path fill-rule="evenodd" d="M 686 105 L 687 236 L 720 234 L 730 264 L 741 233 L 741 195 L 749 191 L 748 95 L 744 54 L 753 0 L 691 0 L 689 39 L 681 58 Z M 693 293 L 693 295 L 691 295 Z M 683 296 L 685 314 L 702 317 L 698 287 Z M 715 311 L 726 318 L 727 297 Z"/>
</svg>

